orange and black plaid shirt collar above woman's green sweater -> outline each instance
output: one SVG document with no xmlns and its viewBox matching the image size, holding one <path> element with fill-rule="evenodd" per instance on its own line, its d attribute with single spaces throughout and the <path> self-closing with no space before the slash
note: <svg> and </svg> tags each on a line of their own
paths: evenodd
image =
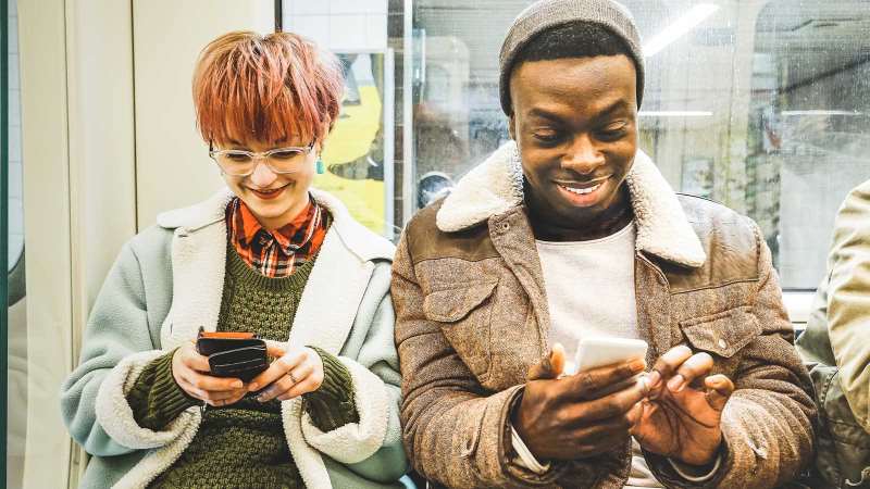
<svg viewBox="0 0 870 489">
<path fill-rule="evenodd" d="M 287 277 L 320 251 L 330 228 L 328 211 L 313 198 L 284 227 L 269 231 L 238 197 L 226 206 L 227 238 L 250 267 L 272 278 Z"/>
</svg>

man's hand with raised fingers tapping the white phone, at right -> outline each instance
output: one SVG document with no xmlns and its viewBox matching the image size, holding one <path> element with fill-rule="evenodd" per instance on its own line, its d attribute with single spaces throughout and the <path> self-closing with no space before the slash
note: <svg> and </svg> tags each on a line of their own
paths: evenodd
<svg viewBox="0 0 870 489">
<path fill-rule="evenodd" d="M 641 447 L 689 465 L 712 462 L 722 443 L 720 418 L 734 383 L 724 375 L 707 376 L 713 359 L 674 347 L 656 362 L 647 381 L 649 394 L 631 434 Z M 692 384 L 703 384 L 695 388 Z"/>
</svg>

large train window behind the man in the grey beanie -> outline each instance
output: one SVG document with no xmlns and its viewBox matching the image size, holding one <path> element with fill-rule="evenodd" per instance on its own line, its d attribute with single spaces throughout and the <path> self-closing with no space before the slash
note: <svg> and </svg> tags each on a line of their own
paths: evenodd
<svg viewBox="0 0 870 489">
<path fill-rule="evenodd" d="M 403 13 L 400 3 L 390 2 L 391 14 Z M 530 3 L 412 2 L 413 33 L 405 35 L 415 46 L 417 188 L 403 197 L 418 209 L 508 139 L 498 50 Z M 641 148 L 675 189 L 755 218 L 784 288 L 815 288 L 836 206 L 870 175 L 862 151 L 870 113 L 866 2 L 623 3 L 647 55 Z"/>
</svg>

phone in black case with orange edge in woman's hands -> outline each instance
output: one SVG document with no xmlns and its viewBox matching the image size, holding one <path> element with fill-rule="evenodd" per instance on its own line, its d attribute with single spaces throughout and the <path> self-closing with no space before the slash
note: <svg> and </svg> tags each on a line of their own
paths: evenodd
<svg viewBox="0 0 870 489">
<path fill-rule="evenodd" d="M 209 358 L 211 375 L 250 381 L 269 366 L 265 341 L 253 333 L 207 333 L 199 328 L 197 351 Z"/>
</svg>

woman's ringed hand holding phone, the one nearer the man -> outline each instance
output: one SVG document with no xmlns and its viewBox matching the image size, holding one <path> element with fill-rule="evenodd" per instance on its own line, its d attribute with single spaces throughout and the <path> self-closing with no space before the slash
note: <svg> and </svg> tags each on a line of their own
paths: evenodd
<svg viewBox="0 0 870 489">
<path fill-rule="evenodd" d="M 269 356 L 276 358 L 265 372 L 251 380 L 248 390 L 265 389 L 257 396 L 260 402 L 281 401 L 320 389 L 323 384 L 323 361 L 310 348 L 294 348 L 279 341 L 266 341 Z"/>
</svg>

